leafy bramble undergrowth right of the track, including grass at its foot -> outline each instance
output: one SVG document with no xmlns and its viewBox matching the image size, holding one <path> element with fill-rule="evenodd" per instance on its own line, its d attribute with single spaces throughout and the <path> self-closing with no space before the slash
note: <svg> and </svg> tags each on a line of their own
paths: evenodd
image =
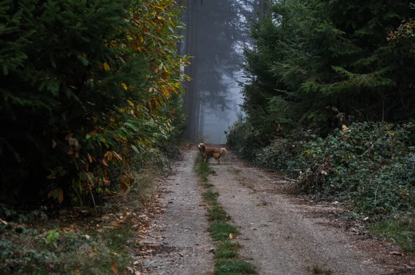
<svg viewBox="0 0 415 275">
<path fill-rule="evenodd" d="M 295 178 L 289 190 L 343 201 L 380 221 L 372 230 L 413 251 L 415 227 L 395 217 L 415 210 L 414 123 L 353 123 L 324 137 L 296 129 L 261 146 L 252 127 L 237 122 L 227 138 L 232 151 L 255 166 Z"/>
</svg>

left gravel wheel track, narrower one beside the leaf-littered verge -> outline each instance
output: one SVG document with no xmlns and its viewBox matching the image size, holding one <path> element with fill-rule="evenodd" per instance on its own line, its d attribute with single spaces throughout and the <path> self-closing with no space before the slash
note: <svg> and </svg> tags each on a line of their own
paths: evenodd
<svg viewBox="0 0 415 275">
<path fill-rule="evenodd" d="M 157 249 L 144 263 L 142 272 L 150 274 L 213 274 L 214 263 L 208 220 L 201 204 L 201 187 L 193 172 L 194 152 L 176 163 L 174 174 L 161 189 L 163 215 L 153 220 L 142 243 Z"/>
</svg>

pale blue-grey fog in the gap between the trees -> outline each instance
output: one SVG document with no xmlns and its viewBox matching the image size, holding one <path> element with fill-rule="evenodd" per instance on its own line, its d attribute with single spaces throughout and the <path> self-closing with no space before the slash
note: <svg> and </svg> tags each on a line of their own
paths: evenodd
<svg viewBox="0 0 415 275">
<path fill-rule="evenodd" d="M 243 103 L 243 46 L 248 44 L 249 23 L 260 1 L 185 1 L 185 30 L 179 48 L 190 55 L 185 73 L 187 139 L 226 143 L 225 133 L 241 116 Z"/>
</svg>

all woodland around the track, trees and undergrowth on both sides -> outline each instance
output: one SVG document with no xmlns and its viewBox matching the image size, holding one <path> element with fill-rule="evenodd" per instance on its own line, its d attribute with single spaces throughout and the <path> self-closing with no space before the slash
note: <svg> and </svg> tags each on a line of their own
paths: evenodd
<svg viewBox="0 0 415 275">
<path fill-rule="evenodd" d="M 0 273 L 125 269 L 118 225 L 241 66 L 228 148 L 415 252 L 411 1 L 3 0 L 0 18 Z"/>
</svg>

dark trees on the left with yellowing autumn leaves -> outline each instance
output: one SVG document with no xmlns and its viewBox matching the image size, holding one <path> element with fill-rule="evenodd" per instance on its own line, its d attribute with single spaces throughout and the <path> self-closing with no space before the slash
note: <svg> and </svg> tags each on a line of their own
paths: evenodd
<svg viewBox="0 0 415 275">
<path fill-rule="evenodd" d="M 1 2 L 1 200 L 125 190 L 133 155 L 178 138 L 180 12 L 172 0 Z"/>
</svg>

